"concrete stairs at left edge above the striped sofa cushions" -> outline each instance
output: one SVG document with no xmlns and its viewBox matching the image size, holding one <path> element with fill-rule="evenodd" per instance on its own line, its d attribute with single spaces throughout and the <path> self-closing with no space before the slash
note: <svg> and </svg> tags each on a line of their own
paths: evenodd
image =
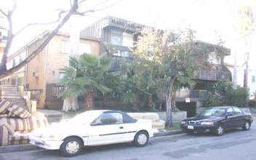
<svg viewBox="0 0 256 160">
<path fill-rule="evenodd" d="M 25 110 L 27 110 L 27 106 L 25 104 L 25 100 L 20 95 L 17 86 L 0 86 L 0 95 L 1 99 L 8 100 L 10 103 L 13 103 Z"/>
</svg>

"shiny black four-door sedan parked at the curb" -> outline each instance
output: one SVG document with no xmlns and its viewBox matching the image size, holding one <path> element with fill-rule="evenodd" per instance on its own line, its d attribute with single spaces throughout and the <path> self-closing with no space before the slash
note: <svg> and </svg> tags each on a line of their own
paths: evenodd
<svg viewBox="0 0 256 160">
<path fill-rule="evenodd" d="M 194 132 L 212 132 L 223 135 L 225 130 L 241 127 L 249 130 L 253 121 L 251 113 L 235 106 L 206 108 L 198 116 L 184 119 L 180 127 L 188 134 Z"/>
</svg>

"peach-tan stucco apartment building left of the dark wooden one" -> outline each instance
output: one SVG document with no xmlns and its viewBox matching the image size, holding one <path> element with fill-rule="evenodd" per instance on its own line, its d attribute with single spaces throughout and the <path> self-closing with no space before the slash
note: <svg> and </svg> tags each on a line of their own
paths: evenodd
<svg viewBox="0 0 256 160">
<path fill-rule="evenodd" d="M 46 39 L 50 31 L 45 31 L 36 39 L 25 44 L 10 55 L 7 59 L 7 69 L 15 67 L 26 57 L 31 55 L 39 45 Z M 87 54 L 100 55 L 100 42 L 96 39 L 80 37 L 76 42 L 76 52 L 72 52 L 73 43 L 67 33 L 57 33 L 49 44 L 41 50 L 19 71 L 1 79 L 1 84 L 23 85 L 26 90 L 31 92 L 31 100 L 37 102 L 37 108 L 47 108 L 47 105 L 55 105 L 58 89 L 57 83 L 64 75 L 60 68 L 68 66 L 68 60 L 71 56 Z M 57 100 L 57 101 L 56 101 Z"/>
</svg>

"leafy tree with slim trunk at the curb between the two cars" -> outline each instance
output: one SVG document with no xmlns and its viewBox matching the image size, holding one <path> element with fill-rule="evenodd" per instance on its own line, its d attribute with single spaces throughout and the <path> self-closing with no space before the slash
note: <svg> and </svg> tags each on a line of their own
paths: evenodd
<svg viewBox="0 0 256 160">
<path fill-rule="evenodd" d="M 154 71 L 151 79 L 166 94 L 166 126 L 171 127 L 175 91 L 180 87 L 193 87 L 197 73 L 203 68 L 210 68 L 210 49 L 207 45 L 194 43 L 193 31 L 189 29 L 179 33 L 163 33 L 150 28 L 145 29 L 142 35 L 134 54 L 135 57 L 151 61 L 147 67 Z"/>
</svg>

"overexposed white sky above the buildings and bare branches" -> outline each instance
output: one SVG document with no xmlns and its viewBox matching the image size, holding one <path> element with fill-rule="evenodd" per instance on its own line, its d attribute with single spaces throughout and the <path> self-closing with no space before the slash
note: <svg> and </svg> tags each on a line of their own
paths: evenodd
<svg viewBox="0 0 256 160">
<path fill-rule="evenodd" d="M 0 0 L 8 6 L 13 0 Z M 81 10 L 101 9 L 84 17 L 73 16 L 69 23 L 76 28 L 85 26 L 111 15 L 135 23 L 160 29 L 193 28 L 199 40 L 217 43 L 219 39 L 229 41 L 233 34 L 234 0 L 87 0 Z M 51 4 L 51 5 L 49 5 Z M 13 17 L 14 31 L 27 23 L 47 23 L 57 19 L 56 9 L 68 9 L 69 0 L 18 0 Z M 21 34 L 24 38 L 39 35 L 54 25 L 28 28 Z M 68 31 L 68 27 L 65 28 Z M 64 30 L 65 30 L 64 29 Z M 17 44 L 18 45 L 18 44 Z"/>
</svg>

